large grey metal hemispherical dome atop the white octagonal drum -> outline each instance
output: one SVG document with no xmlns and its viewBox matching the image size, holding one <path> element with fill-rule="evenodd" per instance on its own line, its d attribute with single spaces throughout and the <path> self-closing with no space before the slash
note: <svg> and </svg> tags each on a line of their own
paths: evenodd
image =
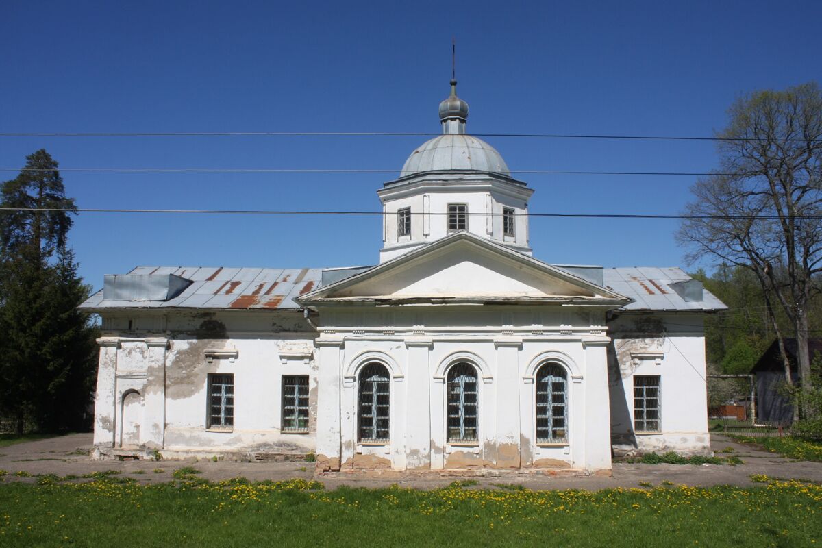
<svg viewBox="0 0 822 548">
<path fill-rule="evenodd" d="M 446 133 L 427 141 L 405 160 L 400 177 L 426 171 L 469 170 L 510 176 L 505 160 L 484 140 Z"/>
</svg>

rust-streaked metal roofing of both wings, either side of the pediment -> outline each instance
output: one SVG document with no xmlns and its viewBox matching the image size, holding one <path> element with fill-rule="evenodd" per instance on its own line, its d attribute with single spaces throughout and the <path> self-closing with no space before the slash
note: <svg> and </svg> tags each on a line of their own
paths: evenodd
<svg viewBox="0 0 822 548">
<path fill-rule="evenodd" d="M 357 269 L 353 273 L 358 272 Z M 321 286 L 322 269 L 260 269 L 205 266 L 138 266 L 128 274 L 175 274 L 192 284 L 169 301 L 104 300 L 103 291 L 89 297 L 81 308 L 227 308 L 297 309 L 293 301 Z M 631 297 L 626 311 L 717 311 L 727 306 L 704 290 L 702 301 L 686 302 L 669 284 L 689 280 L 677 267 L 603 269 L 603 285 Z"/>
</svg>

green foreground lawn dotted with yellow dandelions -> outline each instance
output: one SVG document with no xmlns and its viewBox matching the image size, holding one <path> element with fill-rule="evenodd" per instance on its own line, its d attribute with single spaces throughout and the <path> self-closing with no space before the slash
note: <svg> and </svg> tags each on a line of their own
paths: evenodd
<svg viewBox="0 0 822 548">
<path fill-rule="evenodd" d="M 0 546 L 822 546 L 822 486 L 321 489 L 304 480 L 0 485 Z"/>
</svg>

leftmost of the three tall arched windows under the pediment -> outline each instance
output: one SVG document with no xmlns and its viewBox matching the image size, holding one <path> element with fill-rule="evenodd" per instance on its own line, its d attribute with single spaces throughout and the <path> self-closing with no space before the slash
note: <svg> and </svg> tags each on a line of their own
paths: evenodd
<svg viewBox="0 0 822 548">
<path fill-rule="evenodd" d="M 359 374 L 358 438 L 364 442 L 390 440 L 390 376 L 386 366 L 369 363 Z"/>
</svg>

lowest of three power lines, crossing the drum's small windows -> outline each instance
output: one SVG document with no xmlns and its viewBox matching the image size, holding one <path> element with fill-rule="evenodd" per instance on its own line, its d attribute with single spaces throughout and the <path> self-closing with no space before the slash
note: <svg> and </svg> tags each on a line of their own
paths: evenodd
<svg viewBox="0 0 822 548">
<path fill-rule="evenodd" d="M 0 207 L 0 211 L 63 211 L 66 213 L 158 213 L 158 214 L 256 214 L 256 215 L 399 215 L 399 212 L 342 210 L 161 210 L 127 208 L 38 208 Z M 448 215 L 448 212 L 404 212 L 411 215 Z M 467 215 L 502 216 L 504 213 L 467 212 Z M 516 217 L 549 219 L 752 219 L 777 220 L 778 215 L 682 215 L 682 214 L 616 214 L 616 213 L 514 213 Z M 822 219 L 822 215 L 807 215 L 795 219 Z"/>
</svg>

